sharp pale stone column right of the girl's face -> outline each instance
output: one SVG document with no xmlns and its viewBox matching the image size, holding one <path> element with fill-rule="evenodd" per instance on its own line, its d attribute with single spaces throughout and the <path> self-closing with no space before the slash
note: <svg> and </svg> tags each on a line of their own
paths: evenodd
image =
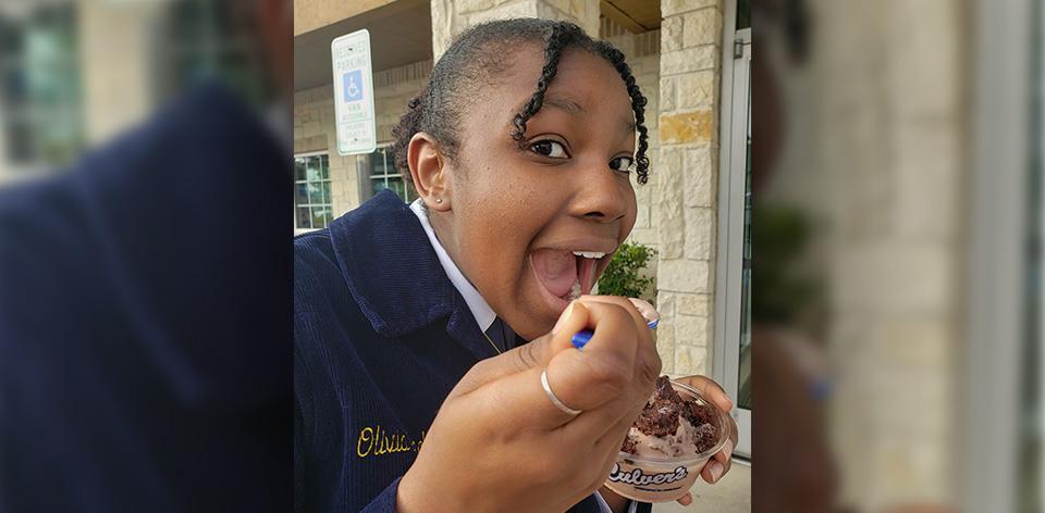
<svg viewBox="0 0 1045 513">
<path fill-rule="evenodd" d="M 722 5 L 661 2 L 660 166 L 650 173 L 664 372 L 710 374 L 713 347 Z"/>
</svg>

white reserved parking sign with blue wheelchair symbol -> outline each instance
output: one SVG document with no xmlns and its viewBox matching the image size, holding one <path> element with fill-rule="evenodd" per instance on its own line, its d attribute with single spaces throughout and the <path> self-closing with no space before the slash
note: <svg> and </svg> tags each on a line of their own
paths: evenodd
<svg viewBox="0 0 1045 513">
<path fill-rule="evenodd" d="M 372 153 L 377 147 L 370 32 L 366 28 L 330 43 L 334 72 L 334 124 L 337 153 Z"/>
</svg>

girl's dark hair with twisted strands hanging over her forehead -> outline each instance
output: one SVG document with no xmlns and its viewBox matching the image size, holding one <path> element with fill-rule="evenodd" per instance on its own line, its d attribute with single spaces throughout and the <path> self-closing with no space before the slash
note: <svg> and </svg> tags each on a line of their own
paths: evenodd
<svg viewBox="0 0 1045 513">
<path fill-rule="evenodd" d="M 526 123 L 540 112 L 548 86 L 558 71 L 563 53 L 577 48 L 605 59 L 620 75 L 631 98 L 635 125 L 639 133 L 638 151 L 635 157 L 637 179 L 646 184 L 650 160 L 646 152 L 649 141 L 646 128 L 646 97 L 635 83 L 631 68 L 624 53 L 605 41 L 595 41 L 583 29 L 568 22 L 537 18 L 501 20 L 476 25 L 460 34 L 439 59 L 428 84 L 420 93 L 407 103 L 407 112 L 392 129 L 395 138 L 392 151 L 395 165 L 409 175 L 406 151 L 410 138 L 425 132 L 439 143 L 447 159 L 455 159 L 459 148 L 457 134 L 460 112 L 479 97 L 481 87 L 503 73 L 511 63 L 503 55 L 515 51 L 520 45 L 541 42 L 544 47 L 544 65 L 537 89 L 522 109 L 512 120 L 512 138 L 520 146 L 526 137 Z"/>
</svg>

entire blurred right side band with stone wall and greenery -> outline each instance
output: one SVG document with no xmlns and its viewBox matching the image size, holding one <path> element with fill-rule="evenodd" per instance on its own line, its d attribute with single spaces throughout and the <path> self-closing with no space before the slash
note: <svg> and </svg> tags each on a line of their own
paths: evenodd
<svg viewBox="0 0 1045 513">
<path fill-rule="evenodd" d="M 1042 511 L 1040 2 L 755 2 L 753 505 Z"/>
</svg>

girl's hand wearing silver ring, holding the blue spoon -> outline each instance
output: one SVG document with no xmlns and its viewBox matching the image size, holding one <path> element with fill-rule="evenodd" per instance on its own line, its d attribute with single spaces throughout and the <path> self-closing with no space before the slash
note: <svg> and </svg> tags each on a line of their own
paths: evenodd
<svg viewBox="0 0 1045 513">
<path fill-rule="evenodd" d="M 594 336 L 582 351 L 570 337 Z M 570 415 L 555 406 L 550 388 Z M 610 473 L 661 361 L 624 298 L 583 297 L 552 333 L 476 364 L 443 402 L 397 506 L 416 511 L 564 511 Z"/>
</svg>

